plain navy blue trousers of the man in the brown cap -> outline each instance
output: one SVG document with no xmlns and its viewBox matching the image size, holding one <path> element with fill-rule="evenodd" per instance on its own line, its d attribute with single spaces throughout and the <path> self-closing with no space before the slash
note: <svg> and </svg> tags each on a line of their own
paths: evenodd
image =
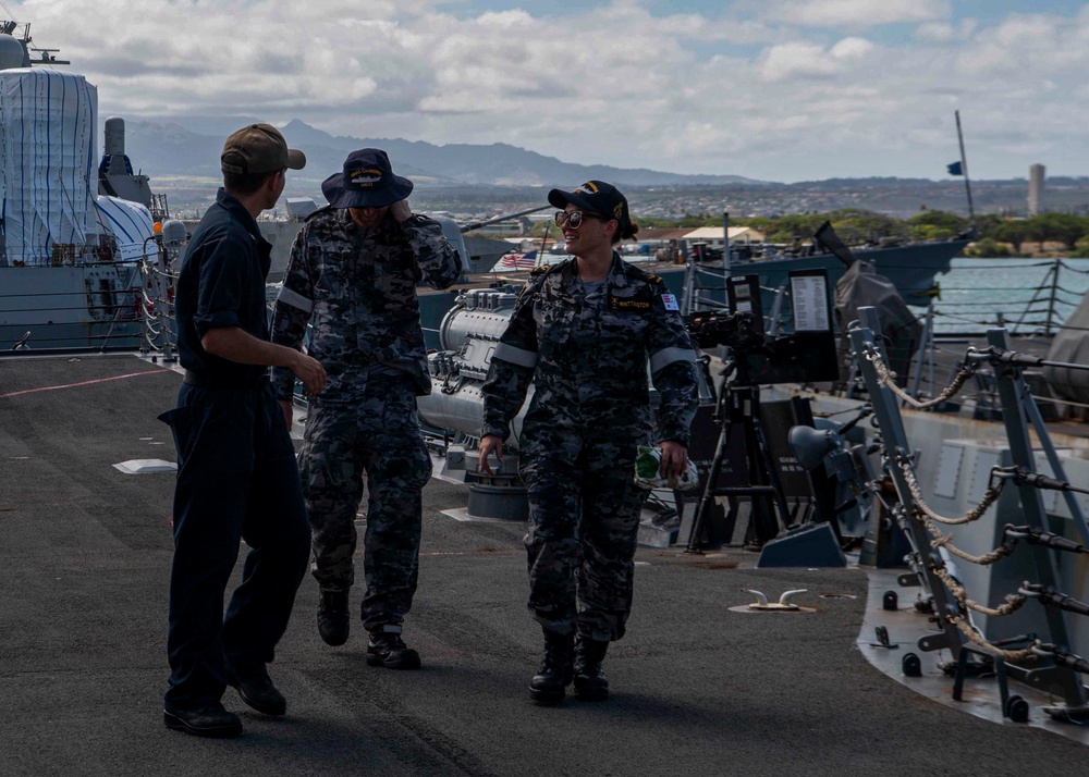
<svg viewBox="0 0 1089 777">
<path fill-rule="evenodd" d="M 272 393 L 182 384 L 160 416 L 178 446 L 168 710 L 219 701 L 228 666 L 272 661 L 306 575 L 310 527 L 295 452 Z M 249 547 L 242 583 L 223 600 Z"/>
</svg>

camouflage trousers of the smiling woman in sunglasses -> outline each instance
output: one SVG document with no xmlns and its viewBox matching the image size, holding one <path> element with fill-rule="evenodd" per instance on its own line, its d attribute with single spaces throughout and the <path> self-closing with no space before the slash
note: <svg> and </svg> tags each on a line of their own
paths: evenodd
<svg viewBox="0 0 1089 777">
<path fill-rule="evenodd" d="M 634 439 L 555 427 L 523 431 L 528 606 L 552 631 L 603 642 L 624 636 L 639 511 L 649 494 L 633 481 Z"/>
</svg>

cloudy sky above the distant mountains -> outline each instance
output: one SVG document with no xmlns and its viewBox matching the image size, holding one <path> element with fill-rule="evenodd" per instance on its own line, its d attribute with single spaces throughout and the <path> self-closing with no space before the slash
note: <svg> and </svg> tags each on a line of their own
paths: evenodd
<svg viewBox="0 0 1089 777">
<path fill-rule="evenodd" d="M 0 0 L 102 116 L 766 181 L 1089 175 L 1089 2 Z"/>
</svg>

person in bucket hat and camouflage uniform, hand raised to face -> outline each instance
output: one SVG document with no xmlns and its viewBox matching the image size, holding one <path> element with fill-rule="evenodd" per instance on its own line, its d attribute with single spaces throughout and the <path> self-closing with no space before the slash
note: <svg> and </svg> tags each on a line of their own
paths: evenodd
<svg viewBox="0 0 1089 777">
<path fill-rule="evenodd" d="M 420 491 L 431 474 L 416 412 L 416 396 L 431 391 L 416 284 L 451 286 L 460 261 L 439 223 L 411 212 L 413 184 L 393 174 L 384 151 L 354 151 L 321 188 L 331 207 L 295 238 L 272 324 L 272 342 L 299 348 L 313 323 L 308 353 L 329 373 L 310 399 L 299 452 L 321 589 L 318 631 L 331 645 L 347 640 L 366 472 L 367 663 L 414 669 L 419 655 L 401 630 L 416 591 Z M 294 380 L 274 370 L 272 382 L 290 425 Z"/>
</svg>

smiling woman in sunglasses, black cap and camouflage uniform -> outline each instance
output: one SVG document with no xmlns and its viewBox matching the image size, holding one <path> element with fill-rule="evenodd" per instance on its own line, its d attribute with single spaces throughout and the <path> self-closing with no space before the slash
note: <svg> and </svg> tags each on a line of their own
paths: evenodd
<svg viewBox="0 0 1089 777">
<path fill-rule="evenodd" d="M 609 642 L 624 636 L 639 513 L 649 492 L 634 482 L 639 445 L 662 447 L 662 472 L 687 467 L 697 404 L 695 350 L 661 279 L 621 260 L 632 237 L 627 200 L 590 181 L 552 189 L 575 259 L 536 271 L 523 289 L 484 386 L 481 469 L 525 399 L 519 469 L 529 493 L 525 544 L 529 610 L 544 630 L 544 661 L 530 683 L 542 704 L 575 694 L 605 699 Z M 661 394 L 657 424 L 647 359 Z"/>
</svg>

